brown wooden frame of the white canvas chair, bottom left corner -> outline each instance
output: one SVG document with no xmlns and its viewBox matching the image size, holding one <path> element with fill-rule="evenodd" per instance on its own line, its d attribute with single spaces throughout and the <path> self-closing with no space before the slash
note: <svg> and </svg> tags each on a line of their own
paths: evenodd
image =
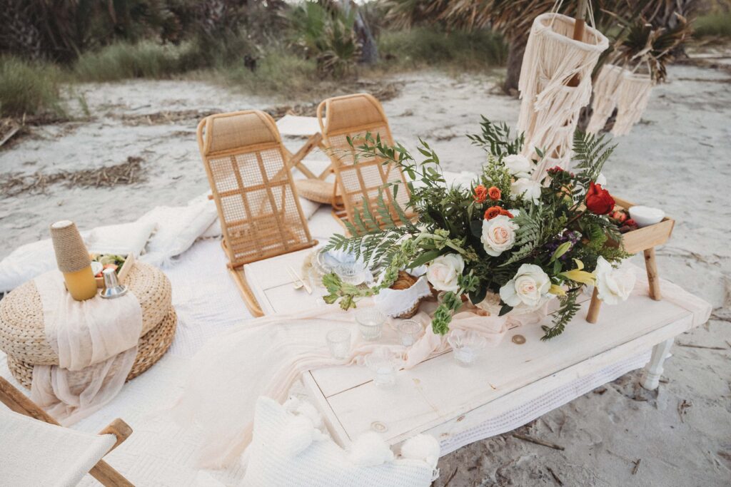
<svg viewBox="0 0 731 487">
<path fill-rule="evenodd" d="M 25 394 L 18 391 L 18 389 L 13 387 L 12 384 L 3 377 L 0 377 L 0 402 L 5 404 L 10 410 L 15 411 L 15 413 L 20 413 L 45 423 L 61 426 L 55 419 L 51 418 L 48 413 L 38 407 L 37 404 L 28 399 Z M 132 428 L 130 428 L 127 423 L 117 418 L 109 423 L 109 426 L 105 429 L 102 429 L 99 434 L 113 434 L 116 437 L 117 440 L 109 450 L 112 451 L 121 445 L 121 443 L 124 442 L 130 434 L 132 434 Z M 96 465 L 89 470 L 89 473 L 96 480 L 99 480 L 102 485 L 108 487 L 134 487 L 129 480 L 124 478 L 121 473 L 110 467 L 110 465 L 104 460 L 96 462 Z"/>
</svg>

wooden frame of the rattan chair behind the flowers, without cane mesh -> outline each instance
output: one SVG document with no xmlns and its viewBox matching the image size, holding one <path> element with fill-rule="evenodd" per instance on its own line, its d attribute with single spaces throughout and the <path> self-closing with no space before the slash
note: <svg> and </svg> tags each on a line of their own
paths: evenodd
<svg viewBox="0 0 731 487">
<path fill-rule="evenodd" d="M 338 128 L 331 127 L 331 121 L 333 120 L 333 118 L 335 118 L 332 115 L 333 105 L 338 104 L 339 101 L 355 99 L 362 99 L 364 104 L 369 104 L 371 108 L 375 109 L 376 112 L 380 115 L 379 119 L 369 120 L 368 122 L 363 123 L 353 123 L 352 125 L 341 126 Z M 379 218 L 379 212 L 376 210 L 375 207 L 376 198 L 371 194 L 374 191 L 375 187 L 368 187 L 366 181 L 363 178 L 363 169 L 366 169 L 368 167 L 376 167 L 379 171 L 379 176 L 381 177 L 382 184 L 393 182 L 393 178 L 390 178 L 391 171 L 397 171 L 398 176 L 401 179 L 401 183 L 403 183 L 404 185 L 403 191 L 407 195 L 409 194 L 409 187 L 406 183 L 406 177 L 404 177 L 404 173 L 401 171 L 400 167 L 395 165 L 388 166 L 387 164 L 384 164 L 384 161 L 380 158 L 374 158 L 371 161 L 357 161 L 355 164 L 344 164 L 342 158 L 335 154 L 333 151 L 332 141 L 334 137 L 345 135 L 347 137 L 352 137 L 355 139 L 358 136 L 362 137 L 364 134 L 366 134 L 366 132 L 372 131 L 374 129 L 381 129 L 381 138 L 385 139 L 385 142 L 387 142 L 387 144 L 393 145 L 393 136 L 391 135 L 388 118 L 385 111 L 383 110 L 382 105 L 374 96 L 368 93 L 355 93 L 352 95 L 336 96 L 326 99 L 325 101 L 322 101 L 317 107 L 317 120 L 319 121 L 320 131 L 322 132 L 322 139 L 325 145 L 325 153 L 327 153 L 327 156 L 330 158 L 330 161 L 332 162 L 331 166 L 336 175 L 336 188 L 333 189 L 333 216 L 335 216 L 341 224 L 343 223 L 342 221 L 344 219 L 347 219 L 348 221 L 350 221 L 350 223 L 355 223 L 355 211 L 363 206 L 363 198 L 366 199 L 366 202 L 370 207 L 372 214 L 376 216 L 376 218 Z M 354 144 L 355 143 L 356 140 L 354 140 Z M 355 150 L 350 149 L 350 153 L 350 156 L 352 158 L 355 158 Z M 357 175 L 358 181 L 360 183 L 360 189 L 358 191 L 349 191 L 348 188 L 346 188 L 346 185 L 344 183 L 344 175 L 346 174 L 346 172 L 355 172 L 355 174 Z M 337 192 L 338 186 L 340 188 L 341 197 L 344 203 L 343 207 L 338 207 L 336 205 L 335 194 Z M 387 199 L 387 202 L 390 204 L 390 207 L 393 207 L 393 193 L 391 191 L 385 191 L 385 197 Z M 407 215 L 409 215 L 409 212 L 407 212 Z M 394 221 L 399 221 L 398 215 L 396 214 L 395 210 L 392 210 L 391 216 Z"/>
</svg>

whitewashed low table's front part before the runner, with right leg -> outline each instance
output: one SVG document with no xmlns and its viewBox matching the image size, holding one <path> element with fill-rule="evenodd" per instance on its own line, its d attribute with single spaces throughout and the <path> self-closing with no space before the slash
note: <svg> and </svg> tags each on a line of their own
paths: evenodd
<svg viewBox="0 0 731 487">
<path fill-rule="evenodd" d="M 637 288 L 645 286 L 637 283 Z M 674 337 L 702 324 L 711 312 L 710 304 L 675 291 L 693 305 L 686 304 L 686 309 L 674 304 L 677 299 L 633 295 L 623 304 L 605 307 L 596 324 L 584 319 L 586 296 L 583 310 L 564 334 L 549 342 L 541 342 L 538 324 L 515 328 L 497 348 L 485 350 L 473 367 L 459 367 L 447 352 L 399 371 L 393 388 L 375 386 L 366 367 L 317 369 L 304 374 L 303 383 L 341 445 L 369 431 L 381 433 L 392 445 L 423 432 L 449 440 L 650 348 L 642 385 L 656 388 Z M 518 334 L 525 338 L 523 344 L 512 340 Z"/>
</svg>

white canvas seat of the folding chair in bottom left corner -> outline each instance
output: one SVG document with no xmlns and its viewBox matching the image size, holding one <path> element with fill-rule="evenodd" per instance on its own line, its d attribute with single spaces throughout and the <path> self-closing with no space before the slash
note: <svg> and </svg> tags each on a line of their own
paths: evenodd
<svg viewBox="0 0 731 487">
<path fill-rule="evenodd" d="M 115 441 L 113 434 L 77 432 L 0 406 L 0 483 L 76 486 Z"/>
</svg>

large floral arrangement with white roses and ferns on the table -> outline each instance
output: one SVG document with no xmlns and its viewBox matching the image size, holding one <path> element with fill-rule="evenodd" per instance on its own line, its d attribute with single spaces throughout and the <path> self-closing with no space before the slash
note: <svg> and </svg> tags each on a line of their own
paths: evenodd
<svg viewBox="0 0 731 487">
<path fill-rule="evenodd" d="M 574 317 L 583 286 L 596 285 L 606 302 L 626 299 L 631 288 L 618 285 L 612 272 L 613 264 L 628 257 L 620 233 L 628 222 L 614 212 L 613 197 L 597 183 L 614 147 L 602 137 L 577 132 L 575 173 L 555 167 L 536 180 L 539 161 L 520 154 L 522 135 L 512 138 L 506 124 L 485 118 L 481 126 L 482 134 L 468 137 L 486 150 L 487 163 L 469 188 L 445 183 L 439 157 L 423 141 L 420 162 L 403 146 L 390 147 L 371 134 L 362 145 L 351 141 L 357 156 L 381 158 L 408 175 L 408 206 L 418 218 L 410 221 L 395 197 L 384 198 L 385 191 L 395 196 L 398 185 L 382 189 L 375 214 L 364 204 L 355 223 L 346 223 L 351 237 L 335 235 L 327 249 L 363 258 L 377 284 L 349 285 L 335 274 L 325 275 L 326 302 L 339 300 L 345 310 L 355 307 L 363 296 L 392 285 L 401 269 L 427 265 L 428 281 L 439 291 L 434 332 L 447 333 L 452 315 L 467 299 L 499 315 L 530 312 L 558 299 L 552 326 L 543 327 L 547 340 Z"/>
</svg>

